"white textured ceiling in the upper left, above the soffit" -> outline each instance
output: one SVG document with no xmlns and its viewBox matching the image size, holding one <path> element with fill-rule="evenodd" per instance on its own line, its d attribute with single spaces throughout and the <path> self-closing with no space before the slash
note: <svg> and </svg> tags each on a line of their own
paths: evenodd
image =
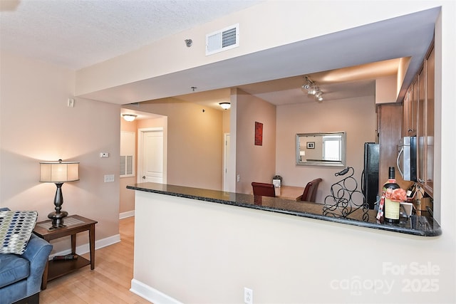
<svg viewBox="0 0 456 304">
<path fill-rule="evenodd" d="M 259 2 L 0 0 L 0 48 L 76 70 Z"/>
</svg>

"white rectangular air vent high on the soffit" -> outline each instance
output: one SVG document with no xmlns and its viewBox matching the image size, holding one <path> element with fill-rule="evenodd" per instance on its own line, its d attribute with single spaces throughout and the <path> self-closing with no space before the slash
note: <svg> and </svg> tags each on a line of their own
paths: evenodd
<svg viewBox="0 0 456 304">
<path fill-rule="evenodd" d="M 239 46 L 239 23 L 206 35 L 206 56 Z"/>
</svg>

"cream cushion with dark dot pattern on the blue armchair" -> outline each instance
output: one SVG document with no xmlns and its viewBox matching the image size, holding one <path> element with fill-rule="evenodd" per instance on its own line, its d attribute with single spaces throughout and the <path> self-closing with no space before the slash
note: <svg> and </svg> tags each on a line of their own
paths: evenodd
<svg viewBox="0 0 456 304">
<path fill-rule="evenodd" d="M 0 211 L 0 253 L 24 253 L 37 218 L 36 211 Z"/>
</svg>

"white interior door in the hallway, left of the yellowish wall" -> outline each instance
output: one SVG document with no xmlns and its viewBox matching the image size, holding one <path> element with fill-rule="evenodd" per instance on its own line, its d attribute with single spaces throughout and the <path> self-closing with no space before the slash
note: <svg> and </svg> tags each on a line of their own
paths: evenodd
<svg viewBox="0 0 456 304">
<path fill-rule="evenodd" d="M 141 132 L 141 182 L 163 182 L 163 130 Z M 139 181 L 138 181 L 139 182 Z"/>
</svg>

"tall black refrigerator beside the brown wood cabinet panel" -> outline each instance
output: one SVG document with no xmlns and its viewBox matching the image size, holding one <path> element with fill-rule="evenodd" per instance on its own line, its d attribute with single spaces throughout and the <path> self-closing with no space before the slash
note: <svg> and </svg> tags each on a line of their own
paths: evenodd
<svg viewBox="0 0 456 304">
<path fill-rule="evenodd" d="M 364 143 L 364 168 L 361 174 L 361 191 L 369 209 L 375 209 L 378 194 L 378 169 L 380 163 L 380 145 L 374 142 Z"/>
</svg>

